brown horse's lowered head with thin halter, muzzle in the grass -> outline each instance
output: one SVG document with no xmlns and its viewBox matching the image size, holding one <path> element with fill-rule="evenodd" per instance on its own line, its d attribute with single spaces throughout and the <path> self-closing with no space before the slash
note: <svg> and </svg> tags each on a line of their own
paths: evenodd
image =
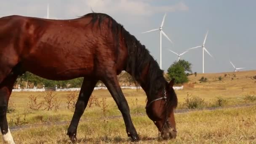
<svg viewBox="0 0 256 144">
<path fill-rule="evenodd" d="M 176 123 L 173 109 L 177 106 L 177 96 L 173 90 L 174 79 L 166 82 L 165 88 L 157 91 L 156 99 L 147 102 L 146 112 L 155 123 L 163 139 L 176 137 Z"/>
</svg>

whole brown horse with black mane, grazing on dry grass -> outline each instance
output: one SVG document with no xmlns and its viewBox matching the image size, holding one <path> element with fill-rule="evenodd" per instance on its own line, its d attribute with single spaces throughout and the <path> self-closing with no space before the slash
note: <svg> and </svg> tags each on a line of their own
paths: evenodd
<svg viewBox="0 0 256 144">
<path fill-rule="evenodd" d="M 94 86 L 101 80 L 123 115 L 128 136 L 139 141 L 128 103 L 117 81 L 125 70 L 147 94 L 146 112 L 164 139 L 176 137 L 173 82 L 168 83 L 149 51 L 122 25 L 104 13 L 77 19 L 49 20 L 24 16 L 0 18 L 0 128 L 13 144 L 6 110 L 13 83 L 28 71 L 49 80 L 84 77 L 67 135 L 76 140 L 77 125 Z"/>
</svg>

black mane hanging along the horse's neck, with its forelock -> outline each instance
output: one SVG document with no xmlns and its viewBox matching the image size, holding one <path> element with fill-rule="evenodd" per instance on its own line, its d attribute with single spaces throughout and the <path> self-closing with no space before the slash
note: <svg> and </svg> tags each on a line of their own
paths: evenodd
<svg viewBox="0 0 256 144">
<path fill-rule="evenodd" d="M 155 99 L 156 93 L 161 89 L 165 88 L 165 85 L 168 83 L 163 77 L 163 70 L 160 69 L 157 61 L 149 54 L 145 45 L 142 45 L 139 40 L 136 39 L 133 35 L 131 35 L 128 31 L 125 30 L 123 25 L 117 23 L 115 19 L 105 13 L 88 13 L 84 16 L 91 16 L 92 24 L 95 24 L 98 21 L 98 25 L 100 28 L 101 23 L 104 19 L 108 19 L 108 27 L 111 28 L 115 46 L 116 53 L 119 48 L 119 40 L 124 39 L 125 46 L 128 49 L 128 60 L 126 64 L 125 71 L 130 73 L 131 76 L 140 83 L 140 78 L 144 68 L 148 65 L 148 75 L 145 77 L 147 79 L 147 83 L 144 86 L 149 90 L 148 91 L 148 99 Z M 82 17 L 84 17 L 82 16 Z M 121 38 L 120 38 L 121 34 Z M 141 83 L 140 83 L 141 84 Z M 173 91 L 174 92 L 174 91 Z M 177 105 L 176 94 L 171 94 L 170 99 L 168 100 L 167 107 Z"/>
</svg>

